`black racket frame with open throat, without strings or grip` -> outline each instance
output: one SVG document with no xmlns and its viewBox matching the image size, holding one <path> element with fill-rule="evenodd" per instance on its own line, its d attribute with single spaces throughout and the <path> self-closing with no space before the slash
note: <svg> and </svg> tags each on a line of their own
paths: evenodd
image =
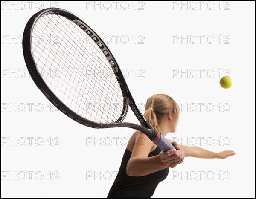
<svg viewBox="0 0 256 199">
<path fill-rule="evenodd" d="M 80 115 L 76 114 L 72 110 L 70 110 L 54 93 L 49 89 L 49 87 L 44 83 L 44 80 L 41 78 L 41 75 L 38 73 L 38 70 L 36 69 L 35 62 L 33 59 L 32 54 L 32 32 L 33 28 L 35 26 L 35 23 L 37 20 L 39 20 L 41 17 L 43 17 L 46 14 L 59 14 L 63 17 L 66 17 L 67 19 L 73 21 L 77 26 L 79 26 L 81 29 L 83 29 L 87 35 L 89 35 L 95 43 L 99 46 L 99 43 L 102 43 L 103 47 L 100 48 L 102 52 L 105 54 L 108 53 L 108 56 L 105 55 L 107 60 L 112 66 L 113 72 L 116 76 L 117 81 L 119 82 L 119 85 L 122 90 L 123 94 L 123 110 L 122 115 L 119 117 L 119 119 L 113 123 L 110 124 L 102 124 L 93 122 L 90 120 L 87 120 L 86 118 L 81 117 Z M 89 32 L 88 32 L 89 31 Z M 96 37 L 96 38 L 94 38 Z M 125 82 L 125 79 L 122 75 L 121 69 L 119 68 L 119 65 L 117 64 L 115 58 L 113 57 L 111 51 L 108 49 L 107 45 L 104 43 L 104 41 L 99 37 L 99 35 L 96 34 L 96 32 L 93 31 L 93 29 L 90 28 L 86 23 L 84 23 L 81 19 L 76 17 L 76 15 L 72 14 L 71 12 L 59 9 L 59 8 L 47 8 L 43 9 L 37 13 L 35 13 L 27 22 L 26 27 L 24 29 L 23 33 L 23 55 L 26 62 L 26 66 L 28 68 L 29 74 L 32 77 L 32 80 L 35 82 L 38 89 L 41 90 L 41 92 L 47 97 L 47 99 L 56 107 L 58 110 L 63 112 L 65 115 L 73 119 L 74 121 L 83 124 L 87 127 L 92 128 L 112 128 L 112 127 L 128 127 L 133 128 L 135 130 L 140 130 L 143 133 L 145 133 L 148 138 L 151 140 L 154 140 L 157 135 L 157 130 L 152 128 L 148 122 L 145 120 L 143 115 L 140 113 L 140 110 L 138 109 L 137 105 L 135 104 L 135 101 L 131 95 L 131 92 L 128 89 L 128 86 Z M 127 115 L 128 112 L 128 104 L 131 107 L 131 110 L 134 112 L 134 115 L 137 117 L 137 119 L 140 121 L 140 125 L 128 123 L 128 122 L 122 122 Z"/>
</svg>

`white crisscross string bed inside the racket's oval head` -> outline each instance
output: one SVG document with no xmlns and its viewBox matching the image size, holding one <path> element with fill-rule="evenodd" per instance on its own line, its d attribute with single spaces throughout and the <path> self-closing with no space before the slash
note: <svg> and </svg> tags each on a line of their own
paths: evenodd
<svg viewBox="0 0 256 199">
<path fill-rule="evenodd" d="M 87 39 L 87 34 L 76 24 L 59 15 L 42 17 L 35 24 L 33 33 L 42 35 L 43 39 L 52 34 L 58 38 L 58 43 L 32 42 L 38 72 L 58 72 L 58 78 L 41 74 L 52 92 L 86 119 L 99 123 L 118 120 L 123 110 L 122 89 L 97 44 L 90 37 Z M 107 77 L 104 71 L 108 72 Z M 113 104 L 119 104 L 120 108 Z M 112 107 L 106 110 L 106 105 Z"/>
</svg>

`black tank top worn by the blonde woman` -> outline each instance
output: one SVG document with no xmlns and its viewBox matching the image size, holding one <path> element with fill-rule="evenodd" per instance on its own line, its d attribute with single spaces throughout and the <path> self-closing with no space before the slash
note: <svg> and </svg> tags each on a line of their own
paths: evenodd
<svg viewBox="0 0 256 199">
<path fill-rule="evenodd" d="M 148 157 L 157 156 L 160 152 L 161 150 L 157 147 L 148 154 Z M 130 157 L 131 152 L 125 149 L 121 166 L 107 198 L 150 198 L 154 194 L 158 183 L 166 179 L 169 167 L 146 176 L 128 176 L 126 165 Z"/>
</svg>

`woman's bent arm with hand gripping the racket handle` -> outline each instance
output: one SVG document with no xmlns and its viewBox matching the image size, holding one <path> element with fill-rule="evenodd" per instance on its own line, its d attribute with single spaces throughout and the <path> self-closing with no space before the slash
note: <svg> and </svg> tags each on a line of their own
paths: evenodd
<svg viewBox="0 0 256 199">
<path fill-rule="evenodd" d="M 137 134 L 131 158 L 126 166 L 128 176 L 145 176 L 167 167 L 174 168 L 184 159 L 183 151 L 176 149 L 161 152 L 161 156 L 148 157 L 154 146 L 144 133 Z"/>
</svg>

